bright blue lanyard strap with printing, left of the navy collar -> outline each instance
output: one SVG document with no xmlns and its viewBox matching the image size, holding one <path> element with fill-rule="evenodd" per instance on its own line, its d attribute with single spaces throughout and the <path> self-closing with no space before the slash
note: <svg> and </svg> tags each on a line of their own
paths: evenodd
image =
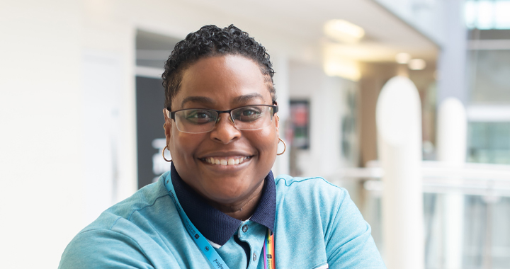
<svg viewBox="0 0 510 269">
<path fill-rule="evenodd" d="M 190 234 L 191 238 L 195 240 L 195 243 L 197 244 L 198 248 L 200 248 L 200 251 L 202 251 L 205 257 L 208 258 L 209 262 L 212 264 L 212 267 L 220 269 L 229 269 L 227 263 L 223 261 L 220 255 L 209 244 L 207 239 L 205 239 L 205 237 L 202 234 L 200 234 L 200 231 L 196 229 L 195 225 L 193 225 L 190 219 L 188 219 L 188 216 L 186 216 L 186 213 L 182 209 L 181 203 L 179 203 L 177 195 L 175 194 L 174 184 L 171 183 L 170 173 L 166 176 L 164 183 L 166 190 L 168 190 L 170 193 L 171 200 L 173 200 L 174 204 L 176 205 L 177 212 L 179 212 L 179 215 L 181 216 L 181 220 L 184 223 L 184 227 L 186 227 L 186 230 L 188 230 L 188 234 Z"/>
</svg>

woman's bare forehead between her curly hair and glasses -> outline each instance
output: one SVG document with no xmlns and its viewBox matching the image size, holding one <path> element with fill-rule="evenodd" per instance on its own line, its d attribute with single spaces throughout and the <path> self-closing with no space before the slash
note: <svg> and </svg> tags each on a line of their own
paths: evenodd
<svg viewBox="0 0 510 269">
<path fill-rule="evenodd" d="M 199 59 L 183 71 L 172 110 L 200 105 L 200 100 L 203 105 L 226 109 L 246 102 L 271 105 L 272 99 L 256 62 L 239 55 L 222 55 Z"/>
</svg>

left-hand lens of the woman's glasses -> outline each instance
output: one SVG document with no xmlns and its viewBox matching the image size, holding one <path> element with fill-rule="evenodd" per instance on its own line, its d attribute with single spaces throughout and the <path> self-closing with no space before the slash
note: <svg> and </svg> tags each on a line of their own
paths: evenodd
<svg viewBox="0 0 510 269">
<path fill-rule="evenodd" d="M 217 112 L 208 109 L 186 109 L 175 113 L 177 129 L 181 132 L 198 134 L 214 128 Z"/>
</svg>

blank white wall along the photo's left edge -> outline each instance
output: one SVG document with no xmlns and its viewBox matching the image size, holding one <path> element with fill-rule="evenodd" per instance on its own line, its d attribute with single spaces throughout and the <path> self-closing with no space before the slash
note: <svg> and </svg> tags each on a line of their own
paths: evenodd
<svg viewBox="0 0 510 269">
<path fill-rule="evenodd" d="M 77 1 L 0 2 L 0 268 L 56 268 L 83 224 Z"/>
</svg>

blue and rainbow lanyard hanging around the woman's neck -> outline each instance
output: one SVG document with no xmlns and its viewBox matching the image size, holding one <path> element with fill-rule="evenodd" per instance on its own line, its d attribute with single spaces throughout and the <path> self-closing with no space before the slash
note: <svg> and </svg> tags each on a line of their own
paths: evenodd
<svg viewBox="0 0 510 269">
<path fill-rule="evenodd" d="M 200 231 L 198 231 L 195 225 L 191 223 L 191 220 L 188 218 L 188 216 L 182 209 L 181 203 L 179 202 L 179 199 L 177 199 L 177 195 L 175 194 L 174 184 L 171 183 L 171 173 L 169 173 L 166 176 L 164 183 L 166 190 L 168 190 L 170 193 L 171 200 L 174 201 L 177 212 L 179 212 L 179 215 L 181 216 L 181 220 L 184 223 L 184 227 L 186 227 L 186 230 L 188 230 L 188 234 L 191 236 L 191 238 L 195 239 L 195 243 L 197 244 L 198 248 L 200 248 L 200 251 L 202 251 L 205 257 L 208 258 L 209 262 L 212 264 L 212 267 L 220 269 L 229 269 L 227 263 L 223 261 L 220 255 L 215 251 L 215 248 L 213 248 L 209 244 L 209 241 L 207 241 L 207 239 L 205 239 L 205 237 L 202 234 L 200 234 Z M 264 241 L 263 253 L 264 253 L 264 269 L 274 269 L 275 268 L 274 234 L 272 234 L 269 229 L 266 234 L 266 240 Z"/>
</svg>

